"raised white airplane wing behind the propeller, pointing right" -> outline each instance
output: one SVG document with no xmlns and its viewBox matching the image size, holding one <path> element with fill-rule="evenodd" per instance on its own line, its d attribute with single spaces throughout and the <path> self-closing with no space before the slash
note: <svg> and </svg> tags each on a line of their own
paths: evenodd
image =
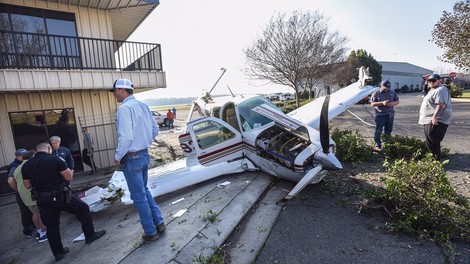
<svg viewBox="0 0 470 264">
<path fill-rule="evenodd" d="M 361 86 L 361 82 L 357 81 L 332 93 L 330 95 L 330 104 L 328 108 L 328 120 L 340 115 L 353 104 L 359 102 L 361 99 L 378 89 L 379 87 L 372 87 L 370 85 Z M 304 124 L 308 124 L 313 128 L 318 128 L 320 125 L 320 113 L 323 101 L 324 97 L 317 98 L 287 115 Z"/>
</svg>

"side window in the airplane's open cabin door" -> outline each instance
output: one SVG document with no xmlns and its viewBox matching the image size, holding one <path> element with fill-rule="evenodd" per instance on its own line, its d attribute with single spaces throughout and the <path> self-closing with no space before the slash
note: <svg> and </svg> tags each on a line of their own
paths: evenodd
<svg viewBox="0 0 470 264">
<path fill-rule="evenodd" d="M 228 128 L 212 120 L 194 125 L 193 131 L 200 149 L 206 149 L 236 136 Z"/>
</svg>

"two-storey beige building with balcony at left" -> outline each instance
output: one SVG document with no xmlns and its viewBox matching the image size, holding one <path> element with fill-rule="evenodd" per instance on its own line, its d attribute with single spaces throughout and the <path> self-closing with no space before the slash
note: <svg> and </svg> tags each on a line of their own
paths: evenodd
<svg viewBox="0 0 470 264">
<path fill-rule="evenodd" d="M 15 149 L 58 135 L 76 170 L 89 170 L 80 155 L 84 126 L 96 141 L 97 166 L 113 164 L 118 104 L 107 89 L 118 78 L 137 92 L 166 87 L 160 45 L 125 41 L 158 5 L 0 0 L 0 167 Z"/>
</svg>

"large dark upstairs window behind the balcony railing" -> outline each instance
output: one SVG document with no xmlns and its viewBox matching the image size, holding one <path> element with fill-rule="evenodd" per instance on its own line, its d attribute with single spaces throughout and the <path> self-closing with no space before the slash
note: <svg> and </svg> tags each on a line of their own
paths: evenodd
<svg viewBox="0 0 470 264">
<path fill-rule="evenodd" d="M 0 66 L 78 68 L 75 14 L 0 4 Z"/>
</svg>

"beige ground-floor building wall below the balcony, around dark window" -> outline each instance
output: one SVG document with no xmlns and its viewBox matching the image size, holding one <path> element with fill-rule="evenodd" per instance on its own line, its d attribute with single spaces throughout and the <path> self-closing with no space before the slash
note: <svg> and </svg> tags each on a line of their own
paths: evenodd
<svg viewBox="0 0 470 264">
<path fill-rule="evenodd" d="M 8 113 L 58 108 L 74 109 L 80 150 L 83 149 L 81 127 L 88 126 L 98 148 L 95 155 L 97 166 L 113 165 L 117 106 L 112 93 L 105 90 L 0 94 L 0 167 L 13 161 L 15 148 L 21 147 L 14 146 Z"/>
</svg>

